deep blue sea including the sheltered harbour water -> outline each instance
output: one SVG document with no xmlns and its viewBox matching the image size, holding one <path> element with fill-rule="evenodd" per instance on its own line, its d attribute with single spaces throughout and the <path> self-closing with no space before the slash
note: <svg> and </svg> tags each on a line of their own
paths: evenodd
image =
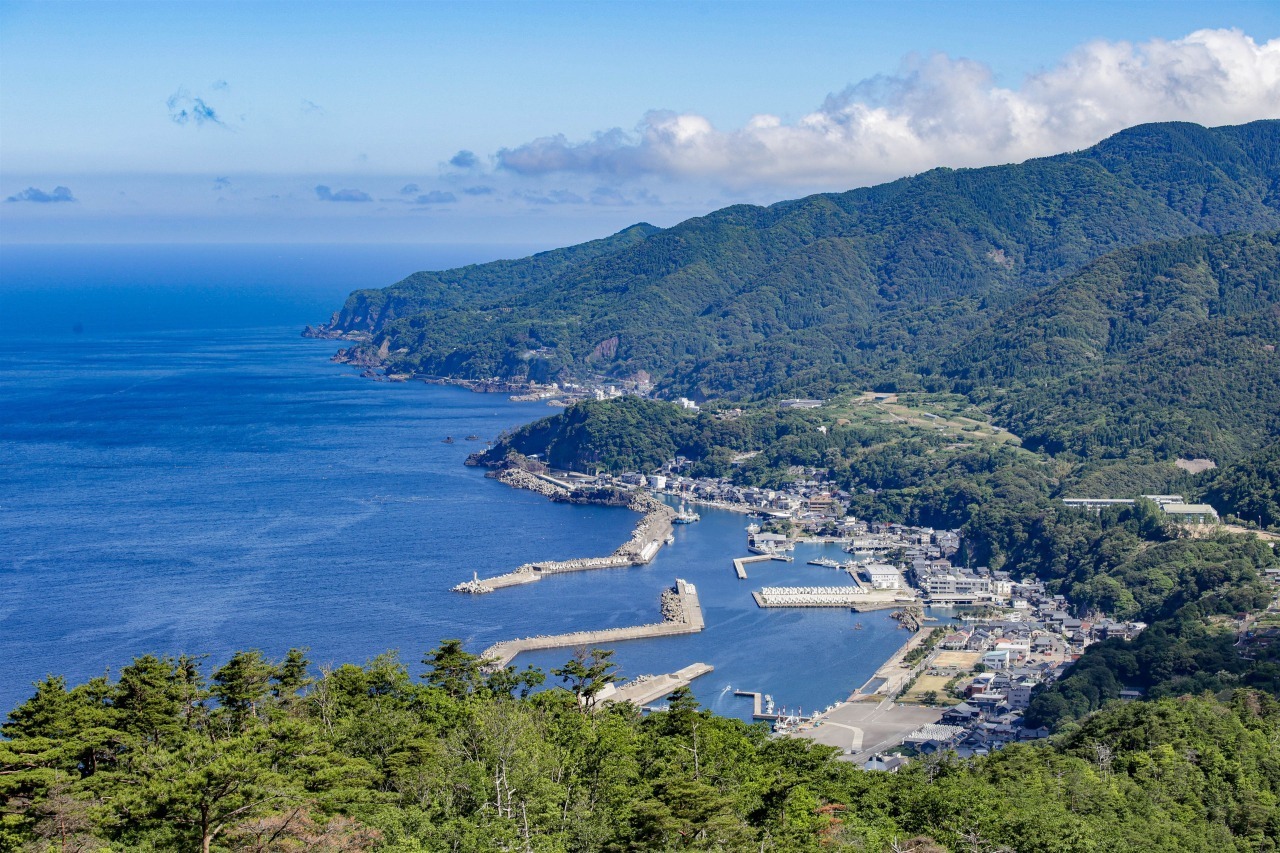
<svg viewBox="0 0 1280 853">
<path fill-rule="evenodd" d="M 46 674 L 77 683 L 146 652 L 209 654 L 210 671 L 243 648 L 306 646 L 316 665 L 397 649 L 420 672 L 448 637 L 479 652 L 655 621 L 677 576 L 698 584 L 707 630 L 617 644 L 622 675 L 712 663 L 696 695 L 744 719 L 732 690 L 814 708 L 865 681 L 905 634 L 883 613 L 758 608 L 760 585 L 842 575 L 806 566 L 835 552 L 808 546 L 739 580 L 730 561 L 745 553 L 746 519 L 730 512 L 700 508 L 644 567 L 449 592 L 474 571 L 608 553 L 635 521 L 462 465 L 476 448 L 462 437 L 553 410 L 361 379 L 329 361 L 334 342 L 298 336 L 349 289 L 484 259 L 466 247 L 0 251 L 0 710 Z"/>
</svg>

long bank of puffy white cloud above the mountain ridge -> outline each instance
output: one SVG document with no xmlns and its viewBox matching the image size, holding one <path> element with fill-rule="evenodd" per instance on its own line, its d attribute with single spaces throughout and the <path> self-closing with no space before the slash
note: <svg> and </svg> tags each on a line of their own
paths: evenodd
<svg viewBox="0 0 1280 853">
<path fill-rule="evenodd" d="M 1260 45 L 1238 29 L 1201 29 L 1174 41 L 1088 42 L 1016 88 L 997 86 L 974 60 L 913 58 L 794 123 L 756 115 L 721 131 L 698 114 L 653 111 L 630 133 L 544 137 L 503 149 L 498 163 L 524 175 L 845 187 L 1080 149 L 1144 122 L 1262 118 L 1280 118 L 1280 38 Z"/>
</svg>

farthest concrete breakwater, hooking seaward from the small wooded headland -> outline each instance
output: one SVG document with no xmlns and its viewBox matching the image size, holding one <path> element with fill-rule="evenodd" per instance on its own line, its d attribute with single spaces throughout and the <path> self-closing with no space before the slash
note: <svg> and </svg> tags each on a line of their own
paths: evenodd
<svg viewBox="0 0 1280 853">
<path fill-rule="evenodd" d="M 498 475 L 498 479 L 517 488 L 544 494 L 552 500 L 563 498 L 571 491 L 549 476 L 530 474 L 520 469 L 508 469 Z M 472 594 L 490 593 L 506 587 L 518 587 L 541 580 L 545 575 L 557 575 L 566 571 L 589 571 L 591 569 L 622 569 L 626 566 L 643 566 L 652 561 L 671 535 L 671 520 L 676 511 L 658 501 L 646 492 L 635 492 L 627 503 L 627 508 L 643 512 L 631 530 L 631 538 L 618 546 L 607 557 L 579 557 L 576 560 L 550 560 L 543 562 L 526 562 L 513 571 L 508 571 L 494 578 L 472 576 L 453 587 L 453 592 Z"/>
</svg>

